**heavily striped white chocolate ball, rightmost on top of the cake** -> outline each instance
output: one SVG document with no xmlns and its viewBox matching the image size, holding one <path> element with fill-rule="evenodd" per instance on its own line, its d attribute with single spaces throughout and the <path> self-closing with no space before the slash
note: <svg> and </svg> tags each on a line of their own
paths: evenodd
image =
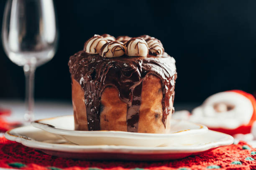
<svg viewBox="0 0 256 170">
<path fill-rule="evenodd" d="M 163 55 L 164 54 L 164 47 L 160 40 L 157 40 L 154 37 L 150 37 L 146 39 L 148 44 L 149 52 L 154 55 Z"/>
</svg>

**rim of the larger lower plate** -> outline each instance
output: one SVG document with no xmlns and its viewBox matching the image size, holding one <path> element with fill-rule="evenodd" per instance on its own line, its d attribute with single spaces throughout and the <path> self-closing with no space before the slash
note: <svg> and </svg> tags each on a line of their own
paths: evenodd
<svg viewBox="0 0 256 170">
<path fill-rule="evenodd" d="M 19 128 L 33 127 L 32 125 L 23 126 Z M 15 130 L 18 128 L 14 128 Z M 227 140 L 217 141 L 212 143 L 206 143 L 205 145 L 200 145 L 197 147 L 141 147 L 141 146 L 124 146 L 124 145 L 68 145 L 68 144 L 55 144 L 55 143 L 45 143 L 40 142 L 23 135 L 13 134 L 12 130 L 8 130 L 5 133 L 5 138 L 24 146 L 43 150 L 54 150 L 68 153 L 123 153 L 123 154 L 174 154 L 174 153 L 200 153 L 210 149 L 218 148 L 220 146 L 231 145 L 234 138 L 228 134 L 216 132 L 213 130 L 208 130 L 205 133 L 219 133 L 225 135 Z M 43 130 L 42 130 L 43 131 Z"/>
</svg>

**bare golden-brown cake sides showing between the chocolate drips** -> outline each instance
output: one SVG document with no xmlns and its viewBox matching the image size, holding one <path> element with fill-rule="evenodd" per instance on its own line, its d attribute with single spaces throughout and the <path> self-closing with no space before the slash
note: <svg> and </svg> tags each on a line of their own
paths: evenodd
<svg viewBox="0 0 256 170">
<path fill-rule="evenodd" d="M 155 75 L 147 75 L 143 80 L 141 107 L 139 111 L 138 133 L 167 133 L 171 113 L 167 117 L 166 128 L 162 122 L 161 80 Z M 76 130 L 88 130 L 84 104 L 84 91 L 80 84 L 72 78 L 72 100 Z M 172 100 L 172 99 L 170 99 Z M 172 102 L 171 102 L 172 103 Z M 127 104 L 118 97 L 115 87 L 107 87 L 101 95 L 101 130 L 127 131 Z"/>
</svg>

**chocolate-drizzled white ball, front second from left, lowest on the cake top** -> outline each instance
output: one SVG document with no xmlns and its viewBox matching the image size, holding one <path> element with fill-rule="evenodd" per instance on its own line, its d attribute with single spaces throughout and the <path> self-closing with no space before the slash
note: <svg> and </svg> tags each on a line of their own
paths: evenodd
<svg viewBox="0 0 256 170">
<path fill-rule="evenodd" d="M 100 49 L 100 55 L 102 57 L 120 57 L 125 54 L 123 42 L 110 41 L 104 44 Z"/>
</svg>

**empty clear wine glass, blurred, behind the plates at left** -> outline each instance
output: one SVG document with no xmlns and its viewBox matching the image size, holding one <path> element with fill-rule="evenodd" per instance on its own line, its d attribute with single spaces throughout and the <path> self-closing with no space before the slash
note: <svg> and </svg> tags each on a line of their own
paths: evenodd
<svg viewBox="0 0 256 170">
<path fill-rule="evenodd" d="M 2 42 L 9 59 L 23 66 L 26 77 L 26 122 L 34 118 L 34 73 L 51 60 L 58 40 L 52 0 L 8 0 L 5 5 Z"/>
</svg>

